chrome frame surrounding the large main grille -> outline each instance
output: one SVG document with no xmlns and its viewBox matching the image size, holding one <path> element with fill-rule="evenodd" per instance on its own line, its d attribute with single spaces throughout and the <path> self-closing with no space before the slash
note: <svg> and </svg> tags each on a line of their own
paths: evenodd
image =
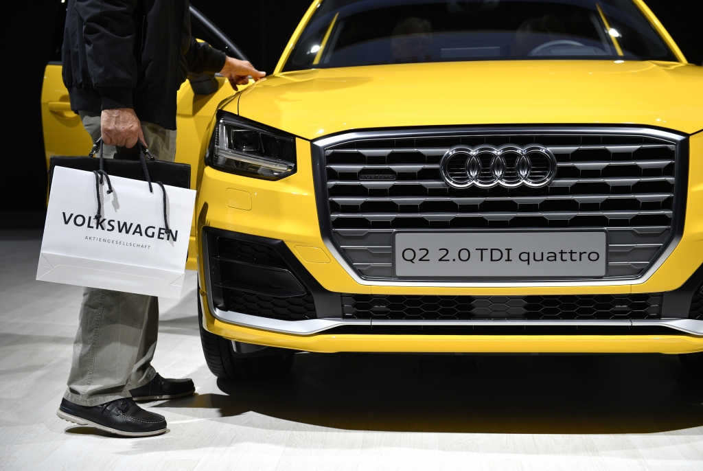
<svg viewBox="0 0 703 471">
<path fill-rule="evenodd" d="M 327 158 L 325 156 L 325 150 L 328 148 L 339 146 L 342 143 L 347 143 L 350 141 L 366 141 L 373 139 L 408 139 L 408 138 L 438 138 L 438 137 L 456 137 L 456 136 L 637 136 L 645 138 L 656 138 L 662 141 L 667 141 L 670 146 L 673 146 L 675 151 L 674 156 L 674 177 L 673 177 L 673 206 L 671 209 L 671 228 L 669 237 L 664 243 L 662 243 L 661 248 L 658 253 L 650 259 L 650 263 L 646 269 L 644 269 L 638 276 L 607 276 L 603 278 L 562 278 L 562 279 L 550 279 L 550 278 L 515 278 L 515 279 L 423 279 L 423 278 L 392 278 L 392 277 L 374 277 L 365 276 L 361 274 L 354 268 L 352 260 L 344 254 L 344 251 L 334 240 L 333 237 L 333 227 L 330 217 L 330 196 L 328 193 L 328 176 L 327 176 Z M 614 144 L 613 146 L 622 147 L 621 145 Z M 646 146 L 646 145 L 645 145 Z M 563 148 L 561 150 L 568 150 L 566 148 L 573 148 L 574 146 L 547 146 L 550 149 Z M 578 148 L 588 148 L 588 145 L 577 146 Z M 604 148 L 605 145 L 593 146 L 593 148 Z M 641 147 L 641 146 L 635 146 Z M 311 143 L 311 153 L 313 160 L 313 174 L 314 183 L 316 190 L 316 204 L 318 209 L 318 220 L 321 228 L 321 235 L 325 242 L 325 246 L 328 250 L 335 256 L 337 262 L 339 262 L 345 271 L 352 276 L 357 283 L 361 285 L 380 285 L 380 286 L 426 286 L 426 287 L 529 287 L 529 286 L 598 286 L 598 285 L 632 285 L 644 283 L 652 273 L 656 271 L 659 266 L 669 257 L 669 254 L 681 240 L 683 234 L 683 224 L 685 219 L 685 205 L 686 205 L 686 193 L 688 191 L 688 136 L 684 134 L 677 134 L 669 130 L 654 129 L 649 127 L 613 127 L 613 126 L 583 126 L 583 127 L 442 127 L 442 128 L 415 128 L 415 129 L 387 129 L 387 130 L 370 130 L 370 131 L 354 131 L 337 134 L 334 136 L 325 136 L 319 138 Z M 588 162 L 589 164 L 599 164 L 602 162 Z M 632 162 L 629 162 L 632 163 Z M 400 166 L 402 164 L 399 164 Z M 418 164 L 410 164 L 411 166 L 417 167 Z M 560 166 L 567 167 L 574 165 L 573 162 L 560 162 Z M 363 167 L 370 167 L 372 164 L 365 164 Z M 380 167 L 388 168 L 389 164 L 383 164 Z M 618 178 L 618 177 L 610 177 Z M 646 178 L 646 177 L 643 177 Z M 666 178 L 666 177 L 662 177 Z M 627 179 L 627 177 L 624 177 Z M 567 185 L 574 184 L 576 181 L 583 181 L 583 179 L 573 179 L 574 181 L 567 181 L 568 179 L 560 179 L 560 181 L 554 181 L 550 185 Z M 598 179 L 602 181 L 602 178 Z M 432 183 L 437 184 L 437 183 Z M 441 184 L 445 184 L 441 181 Z M 617 198 L 617 195 L 613 195 Z M 359 197 L 367 198 L 367 197 Z M 411 197 L 412 198 L 412 197 Z M 418 197 L 422 198 L 422 197 Z M 417 198 L 415 198 L 417 199 Z M 636 212 L 641 213 L 643 210 L 637 210 Z M 659 212 L 662 212 L 661 210 Z M 521 213 L 522 214 L 522 213 Z M 593 226 L 593 228 L 603 228 L 602 226 Z M 606 228 L 607 229 L 607 228 Z M 610 228 L 611 230 L 617 228 Z M 385 231 L 424 231 L 427 232 L 427 228 L 391 228 Z M 487 228 L 478 229 L 484 231 L 578 231 L 586 230 L 586 227 L 579 228 Z M 373 230 L 371 230 L 373 231 Z M 378 231 L 384 231 L 379 229 Z M 477 231 L 475 228 L 465 228 L 465 229 L 430 229 L 430 231 L 460 231 L 469 232 Z M 612 246 L 612 243 L 610 243 Z"/>
</svg>

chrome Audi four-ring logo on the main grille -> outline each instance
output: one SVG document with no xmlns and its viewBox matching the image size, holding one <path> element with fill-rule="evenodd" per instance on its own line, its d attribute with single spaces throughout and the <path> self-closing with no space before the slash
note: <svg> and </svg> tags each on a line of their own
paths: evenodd
<svg viewBox="0 0 703 471">
<path fill-rule="evenodd" d="M 439 162 L 439 172 L 454 188 L 547 186 L 557 174 L 557 159 L 543 146 L 455 146 Z"/>
</svg>

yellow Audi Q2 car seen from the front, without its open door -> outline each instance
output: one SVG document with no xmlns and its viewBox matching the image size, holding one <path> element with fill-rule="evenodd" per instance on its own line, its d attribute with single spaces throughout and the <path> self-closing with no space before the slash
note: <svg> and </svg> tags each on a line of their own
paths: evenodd
<svg viewBox="0 0 703 471">
<path fill-rule="evenodd" d="M 703 68 L 640 0 L 315 1 L 219 105 L 205 354 L 703 351 Z"/>
</svg>

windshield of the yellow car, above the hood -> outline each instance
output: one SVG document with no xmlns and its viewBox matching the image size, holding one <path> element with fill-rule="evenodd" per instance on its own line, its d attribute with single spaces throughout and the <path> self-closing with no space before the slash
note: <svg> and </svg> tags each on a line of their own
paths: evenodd
<svg viewBox="0 0 703 471">
<path fill-rule="evenodd" d="M 676 61 L 631 0 L 323 0 L 283 71 L 505 59 Z"/>
</svg>

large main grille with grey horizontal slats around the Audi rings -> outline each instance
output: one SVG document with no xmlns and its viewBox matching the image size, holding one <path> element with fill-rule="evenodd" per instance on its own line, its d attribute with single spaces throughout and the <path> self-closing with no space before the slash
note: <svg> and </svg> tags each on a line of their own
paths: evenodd
<svg viewBox="0 0 703 471">
<path fill-rule="evenodd" d="M 459 144 L 541 144 L 544 188 L 450 188 L 439 161 Z M 606 277 L 634 278 L 672 235 L 676 141 L 633 134 L 465 134 L 356 138 L 324 148 L 332 240 L 365 278 L 393 279 L 394 232 L 605 229 Z"/>
</svg>

